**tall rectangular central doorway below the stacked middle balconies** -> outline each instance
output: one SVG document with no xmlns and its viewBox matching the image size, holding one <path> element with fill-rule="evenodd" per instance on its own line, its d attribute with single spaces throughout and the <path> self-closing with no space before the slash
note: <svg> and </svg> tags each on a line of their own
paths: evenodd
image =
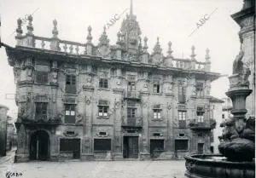
<svg viewBox="0 0 256 178">
<path fill-rule="evenodd" d="M 138 136 L 124 136 L 124 158 L 138 158 Z"/>
</svg>

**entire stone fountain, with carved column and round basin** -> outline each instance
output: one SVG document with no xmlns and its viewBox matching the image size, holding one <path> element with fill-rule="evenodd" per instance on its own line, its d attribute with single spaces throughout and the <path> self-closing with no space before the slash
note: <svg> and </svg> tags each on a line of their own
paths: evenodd
<svg viewBox="0 0 256 178">
<path fill-rule="evenodd" d="M 246 98 L 249 89 L 250 70 L 241 61 L 244 52 L 236 56 L 233 75 L 229 77 L 230 89 L 226 95 L 233 103 L 233 118 L 221 123 L 223 134 L 219 136 L 221 154 L 185 156 L 189 178 L 253 178 L 255 177 L 255 118 L 245 118 Z"/>
</svg>

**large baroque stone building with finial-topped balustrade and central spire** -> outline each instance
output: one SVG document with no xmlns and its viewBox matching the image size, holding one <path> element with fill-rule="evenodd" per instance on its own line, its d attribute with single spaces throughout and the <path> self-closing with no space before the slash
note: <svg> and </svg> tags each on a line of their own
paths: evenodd
<svg viewBox="0 0 256 178">
<path fill-rule="evenodd" d="M 131 3 L 132 4 L 132 3 Z M 16 82 L 16 161 L 29 159 L 172 159 L 210 152 L 215 127 L 211 72 L 206 59 L 163 54 L 160 40 L 148 53 L 136 15 L 126 15 L 117 42 L 106 28 L 92 43 L 33 34 L 32 16 L 23 34 L 17 20 L 17 44 L 6 46 Z M 143 41 L 143 42 L 142 42 Z"/>
</svg>

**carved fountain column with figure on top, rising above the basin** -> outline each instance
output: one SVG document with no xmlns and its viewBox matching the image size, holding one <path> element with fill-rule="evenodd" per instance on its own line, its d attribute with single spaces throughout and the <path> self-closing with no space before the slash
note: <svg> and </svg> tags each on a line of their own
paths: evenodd
<svg viewBox="0 0 256 178">
<path fill-rule="evenodd" d="M 236 56 L 233 63 L 233 75 L 230 76 L 230 89 L 226 92 L 233 103 L 233 118 L 227 119 L 220 126 L 224 127 L 218 150 L 228 161 L 252 161 L 255 158 L 255 121 L 246 118 L 246 99 L 252 93 L 249 89 L 248 77 L 251 74 L 244 68 L 243 51 Z"/>
</svg>

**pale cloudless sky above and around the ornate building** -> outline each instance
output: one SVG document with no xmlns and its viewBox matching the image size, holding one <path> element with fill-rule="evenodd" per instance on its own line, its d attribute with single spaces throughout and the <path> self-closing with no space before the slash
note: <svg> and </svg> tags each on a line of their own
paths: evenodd
<svg viewBox="0 0 256 178">
<path fill-rule="evenodd" d="M 233 60 L 240 49 L 240 27 L 230 15 L 240 11 L 241 7 L 242 0 L 133 0 L 133 14 L 137 15 L 142 37 L 148 37 L 149 52 L 157 37 L 165 55 L 167 43 L 172 42 L 175 58 L 189 58 L 191 46 L 195 45 L 196 60 L 204 61 L 208 48 L 212 72 L 227 75 L 231 74 Z M 129 13 L 129 8 L 130 0 L 1 0 L 1 40 L 15 47 L 17 19 L 33 13 L 34 35 L 52 37 L 52 21 L 55 19 L 59 38 L 85 43 L 87 27 L 91 26 L 92 41 L 96 44 L 103 26 L 107 26 L 115 14 L 122 14 L 125 9 L 128 9 L 125 14 Z M 116 43 L 125 14 L 107 31 L 111 44 Z M 207 20 L 202 24 L 200 20 L 204 17 Z M 26 25 L 22 30 L 26 33 Z M 8 106 L 9 116 L 16 118 L 14 73 L 4 48 L 0 49 L 0 59 L 0 104 Z M 211 95 L 226 97 L 224 93 L 228 89 L 228 78 L 219 78 L 212 82 Z"/>
</svg>

